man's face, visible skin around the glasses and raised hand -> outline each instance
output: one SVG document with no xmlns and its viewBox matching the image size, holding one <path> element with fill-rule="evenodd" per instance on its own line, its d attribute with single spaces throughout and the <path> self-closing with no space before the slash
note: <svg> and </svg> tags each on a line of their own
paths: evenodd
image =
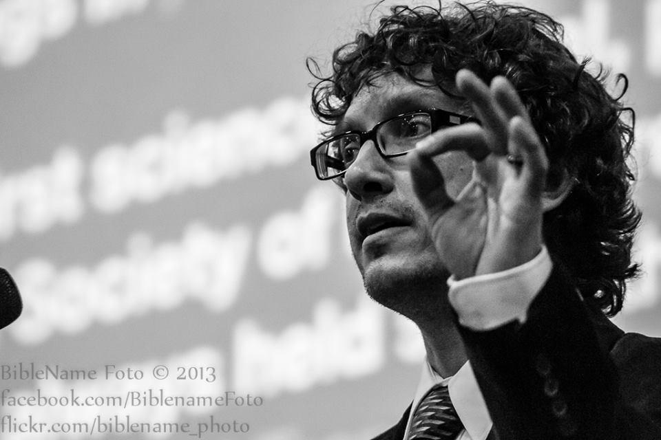
<svg viewBox="0 0 661 440">
<path fill-rule="evenodd" d="M 397 74 L 376 80 L 353 99 L 343 129 L 367 131 L 407 111 L 444 109 L 465 113 L 438 87 L 423 87 Z M 463 110 L 463 111 L 462 111 Z M 472 175 L 464 153 L 437 159 L 450 197 L 457 197 Z M 424 305 L 421 290 L 445 292 L 449 274 L 441 265 L 427 229 L 423 208 L 413 192 L 406 157 L 385 159 L 372 141 L 359 150 L 344 175 L 346 220 L 353 256 L 368 294 L 379 303 L 409 316 Z"/>
</svg>

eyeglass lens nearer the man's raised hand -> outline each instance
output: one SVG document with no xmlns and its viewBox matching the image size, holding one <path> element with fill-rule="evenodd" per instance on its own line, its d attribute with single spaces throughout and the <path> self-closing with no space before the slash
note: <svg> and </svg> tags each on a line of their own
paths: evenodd
<svg viewBox="0 0 661 440">
<path fill-rule="evenodd" d="M 415 144 L 432 133 L 432 118 L 429 113 L 413 113 L 386 122 L 379 127 L 379 146 L 386 155 L 406 153 Z"/>
</svg>

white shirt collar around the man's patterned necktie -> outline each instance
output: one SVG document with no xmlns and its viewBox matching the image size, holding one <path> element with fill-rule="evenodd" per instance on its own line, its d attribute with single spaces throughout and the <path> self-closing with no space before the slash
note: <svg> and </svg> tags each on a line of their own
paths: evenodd
<svg viewBox="0 0 661 440">
<path fill-rule="evenodd" d="M 457 415 L 470 439 L 485 440 L 491 430 L 492 421 L 469 362 L 463 364 L 454 376 L 445 378 L 434 371 L 429 362 L 424 362 L 408 423 L 406 423 L 407 435 L 415 408 L 430 388 L 436 384 L 448 385 L 454 409 L 457 410 Z"/>
</svg>

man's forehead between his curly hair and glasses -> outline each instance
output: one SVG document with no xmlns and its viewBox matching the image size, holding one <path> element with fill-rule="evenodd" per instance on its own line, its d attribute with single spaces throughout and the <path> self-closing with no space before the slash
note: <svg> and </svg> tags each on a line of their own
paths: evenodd
<svg viewBox="0 0 661 440">
<path fill-rule="evenodd" d="M 390 73 L 361 88 L 338 125 L 367 130 L 381 120 L 407 111 L 435 108 L 461 113 L 461 107 L 461 101 L 450 98 L 436 85 L 419 85 Z"/>
</svg>

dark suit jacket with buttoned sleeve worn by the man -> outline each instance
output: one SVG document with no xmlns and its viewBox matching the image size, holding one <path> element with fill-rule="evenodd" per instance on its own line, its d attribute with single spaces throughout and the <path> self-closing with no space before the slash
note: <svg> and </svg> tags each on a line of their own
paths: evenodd
<svg viewBox="0 0 661 440">
<path fill-rule="evenodd" d="M 661 440 L 661 339 L 624 333 L 559 265 L 525 324 L 461 333 L 489 440 Z M 374 440 L 403 439 L 409 411 Z"/>
</svg>

